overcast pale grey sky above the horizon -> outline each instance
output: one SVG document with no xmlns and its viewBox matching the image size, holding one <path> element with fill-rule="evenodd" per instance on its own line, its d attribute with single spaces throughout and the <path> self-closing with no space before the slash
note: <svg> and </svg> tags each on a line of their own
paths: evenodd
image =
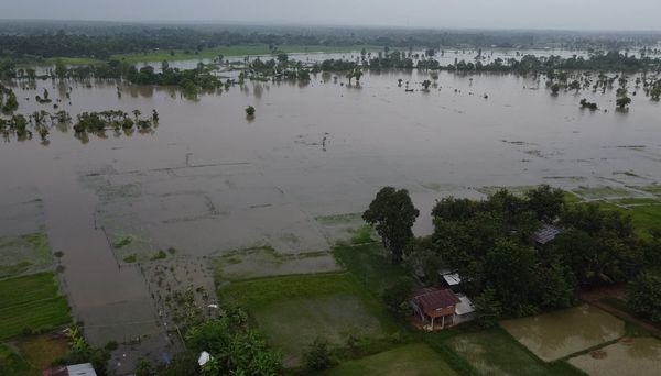
<svg viewBox="0 0 661 376">
<path fill-rule="evenodd" d="M 661 30 L 661 0 L 0 0 L 0 18 Z"/>
</svg>

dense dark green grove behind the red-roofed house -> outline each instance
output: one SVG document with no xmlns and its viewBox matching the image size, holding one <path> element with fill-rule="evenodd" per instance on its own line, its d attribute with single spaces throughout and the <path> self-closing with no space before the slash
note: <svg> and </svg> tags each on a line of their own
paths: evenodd
<svg viewBox="0 0 661 376">
<path fill-rule="evenodd" d="M 630 218 L 598 204 L 566 204 L 562 191 L 546 186 L 523 198 L 505 190 L 484 201 L 445 198 L 433 217 L 434 234 L 422 246 L 462 275 L 487 325 L 568 307 L 578 286 L 627 281 L 648 262 Z M 532 235 L 551 222 L 561 234 L 533 247 Z"/>
</svg>

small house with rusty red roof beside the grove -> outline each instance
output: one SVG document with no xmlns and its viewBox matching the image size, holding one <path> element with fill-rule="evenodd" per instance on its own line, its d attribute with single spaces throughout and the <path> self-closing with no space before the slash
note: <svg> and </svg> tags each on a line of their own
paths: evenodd
<svg viewBox="0 0 661 376">
<path fill-rule="evenodd" d="M 441 328 L 452 324 L 455 307 L 460 300 L 451 289 L 423 288 L 411 295 L 410 305 L 413 312 L 423 322 L 430 322 L 432 330 L 434 321 L 441 319 Z"/>
</svg>

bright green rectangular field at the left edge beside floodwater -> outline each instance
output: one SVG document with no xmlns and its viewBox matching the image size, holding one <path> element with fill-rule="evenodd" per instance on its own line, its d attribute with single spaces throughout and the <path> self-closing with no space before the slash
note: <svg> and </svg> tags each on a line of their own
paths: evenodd
<svg viewBox="0 0 661 376">
<path fill-rule="evenodd" d="M 53 273 L 40 273 L 0 281 L 0 339 L 71 322 L 66 299 L 59 295 Z"/>
</svg>

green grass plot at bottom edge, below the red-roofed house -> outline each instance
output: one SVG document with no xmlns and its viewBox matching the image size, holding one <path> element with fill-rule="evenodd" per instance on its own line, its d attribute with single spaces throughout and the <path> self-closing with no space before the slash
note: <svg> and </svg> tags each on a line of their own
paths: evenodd
<svg viewBox="0 0 661 376">
<path fill-rule="evenodd" d="M 358 361 L 349 361 L 327 375 L 435 376 L 456 375 L 441 355 L 424 343 L 412 343 Z"/>
</svg>

